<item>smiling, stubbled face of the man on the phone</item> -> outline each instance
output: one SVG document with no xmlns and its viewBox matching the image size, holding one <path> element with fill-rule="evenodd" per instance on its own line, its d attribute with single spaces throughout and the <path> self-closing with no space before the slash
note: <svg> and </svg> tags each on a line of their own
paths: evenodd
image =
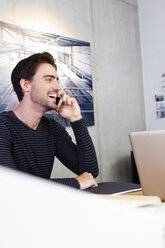
<svg viewBox="0 0 165 248">
<path fill-rule="evenodd" d="M 45 108 L 45 111 L 55 109 L 56 98 L 50 95 L 58 96 L 61 90 L 58 84 L 58 75 L 56 69 L 48 63 L 42 63 L 30 82 L 31 101 Z"/>
</svg>

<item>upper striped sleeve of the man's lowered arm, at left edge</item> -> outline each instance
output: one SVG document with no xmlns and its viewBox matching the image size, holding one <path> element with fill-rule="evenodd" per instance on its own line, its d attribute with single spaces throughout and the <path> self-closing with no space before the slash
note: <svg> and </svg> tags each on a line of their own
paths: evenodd
<svg viewBox="0 0 165 248">
<path fill-rule="evenodd" d="M 12 134 L 3 121 L 0 122 L 0 165 L 16 169 L 12 156 Z"/>
</svg>

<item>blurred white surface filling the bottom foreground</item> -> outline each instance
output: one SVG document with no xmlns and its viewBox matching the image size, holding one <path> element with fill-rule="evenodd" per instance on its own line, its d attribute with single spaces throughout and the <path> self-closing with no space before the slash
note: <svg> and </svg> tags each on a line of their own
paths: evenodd
<svg viewBox="0 0 165 248">
<path fill-rule="evenodd" d="M 163 248 L 164 211 L 0 168 L 0 247 Z"/>
</svg>

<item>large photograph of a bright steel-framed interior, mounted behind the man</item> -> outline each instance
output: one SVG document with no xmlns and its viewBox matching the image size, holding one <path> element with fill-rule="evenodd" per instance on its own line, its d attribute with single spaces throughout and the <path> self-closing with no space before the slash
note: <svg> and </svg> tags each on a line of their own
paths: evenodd
<svg viewBox="0 0 165 248">
<path fill-rule="evenodd" d="M 10 78 L 13 68 L 38 52 L 53 55 L 62 90 L 77 99 L 87 126 L 94 125 L 90 43 L 5 22 L 0 22 L 0 113 L 18 105 Z M 69 126 L 54 110 L 45 115 Z"/>
</svg>

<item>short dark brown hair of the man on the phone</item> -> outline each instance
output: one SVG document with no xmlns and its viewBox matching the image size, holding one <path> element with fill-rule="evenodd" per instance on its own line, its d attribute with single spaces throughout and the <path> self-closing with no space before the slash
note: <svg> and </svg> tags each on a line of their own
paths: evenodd
<svg viewBox="0 0 165 248">
<path fill-rule="evenodd" d="M 37 71 L 37 67 L 42 63 L 51 64 L 57 70 L 53 56 L 47 52 L 36 53 L 26 59 L 22 59 L 13 69 L 11 81 L 19 101 L 23 99 L 24 95 L 20 85 L 21 78 L 32 80 Z"/>
</svg>

